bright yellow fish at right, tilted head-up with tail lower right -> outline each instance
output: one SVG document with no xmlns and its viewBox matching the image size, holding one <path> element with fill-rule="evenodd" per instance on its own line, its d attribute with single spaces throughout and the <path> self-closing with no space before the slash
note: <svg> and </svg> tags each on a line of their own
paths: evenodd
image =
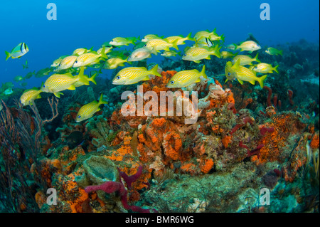
<svg viewBox="0 0 320 227">
<path fill-rule="evenodd" d="M 267 75 L 258 78 L 254 70 L 241 66 L 239 59 L 235 65 L 233 65 L 233 70 L 235 72 L 235 78 L 237 78 L 241 85 L 243 84 L 243 81 L 248 81 L 252 85 L 255 85 L 255 81 L 257 81 L 260 84 L 260 87 L 263 88 L 263 81 L 267 78 Z"/>
</svg>

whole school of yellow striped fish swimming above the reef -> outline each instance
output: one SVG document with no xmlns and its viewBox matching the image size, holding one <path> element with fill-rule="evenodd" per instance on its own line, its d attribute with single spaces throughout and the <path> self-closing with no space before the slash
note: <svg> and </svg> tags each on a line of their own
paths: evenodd
<svg viewBox="0 0 320 227">
<path fill-rule="evenodd" d="M 20 102 L 23 106 L 32 105 L 34 100 L 41 98 L 41 93 L 53 93 L 56 97 L 63 95 L 63 90 L 75 90 L 77 87 L 82 85 L 90 85 L 91 83 L 96 84 L 95 78 L 101 73 L 102 69 L 114 69 L 119 66 L 124 66 L 125 63 L 132 64 L 134 61 L 145 60 L 146 58 L 151 58 L 152 55 L 157 55 L 161 52 L 161 56 L 166 58 L 173 56 L 181 56 L 182 60 L 190 60 L 195 63 L 200 63 L 203 59 L 210 59 L 211 56 L 216 58 L 230 58 L 225 65 L 225 76 L 226 80 L 238 80 L 239 83 L 243 84 L 244 81 L 255 85 L 257 81 L 261 88 L 263 88 L 263 82 L 267 78 L 267 73 L 278 73 L 278 66 L 273 67 L 267 63 L 261 63 L 258 59 L 258 53 L 254 58 L 250 55 L 240 55 L 231 51 L 247 51 L 252 53 L 254 51 L 260 50 L 261 47 L 255 41 L 244 41 L 240 45 L 230 44 L 228 46 L 223 46 L 224 36 L 218 36 L 218 34 L 213 30 L 210 31 L 198 31 L 193 37 L 191 33 L 188 36 L 169 36 L 164 38 L 164 36 L 157 36 L 154 34 L 148 34 L 142 38 L 141 42 L 138 42 L 140 38 L 135 37 L 115 37 L 109 43 L 103 43 L 101 48 L 97 51 L 93 51 L 92 48 L 78 48 L 73 51 L 70 56 L 61 56 L 60 58 L 53 61 L 51 68 L 45 68 L 39 70 L 38 73 L 28 73 L 26 77 L 30 78 L 33 74 L 36 77 L 42 77 L 43 75 L 48 75 L 50 72 L 54 71 L 53 75 L 41 85 L 41 89 L 33 88 L 25 90 L 21 95 Z M 183 50 L 183 54 L 179 51 L 178 46 L 185 45 L 185 41 L 194 42 L 193 46 L 187 46 Z M 129 56 L 125 56 L 121 51 L 114 51 L 114 48 L 119 46 L 129 46 L 134 45 L 134 50 Z M 19 47 L 22 52 L 18 53 Z M 171 48 L 176 49 L 176 51 Z M 228 51 L 220 51 L 221 48 L 226 48 Z M 179 52 L 177 52 L 179 51 Z M 6 52 L 6 60 L 9 56 L 12 58 L 20 58 L 28 52 L 28 47 L 25 43 L 19 44 L 18 47 L 14 48 L 12 53 Z M 265 53 L 270 55 L 282 55 L 282 51 L 275 48 L 267 48 Z M 26 62 L 27 64 L 27 62 Z M 25 65 L 23 66 L 23 68 Z M 85 75 L 85 68 L 100 68 L 100 71 L 91 75 Z M 147 70 L 144 67 L 127 67 L 119 70 L 117 75 L 114 76 L 112 83 L 114 85 L 132 85 L 139 83 L 142 80 L 149 80 L 151 75 L 159 76 L 161 75 L 157 72 L 158 65 L 154 68 Z M 169 83 L 166 85 L 167 88 L 185 88 L 193 83 L 198 83 L 202 78 L 207 78 L 206 67 L 203 65 L 201 72 L 198 70 L 182 70 L 174 75 Z M 257 73 L 264 74 L 260 77 Z M 76 75 L 73 75 L 76 74 Z M 19 77 L 16 80 L 20 81 L 23 78 Z M 100 100 L 96 100 L 84 105 L 80 108 L 76 121 L 80 122 L 82 120 L 87 120 L 92 117 L 95 112 L 100 110 L 100 105 L 107 104 L 103 100 L 101 94 Z"/>
</svg>

